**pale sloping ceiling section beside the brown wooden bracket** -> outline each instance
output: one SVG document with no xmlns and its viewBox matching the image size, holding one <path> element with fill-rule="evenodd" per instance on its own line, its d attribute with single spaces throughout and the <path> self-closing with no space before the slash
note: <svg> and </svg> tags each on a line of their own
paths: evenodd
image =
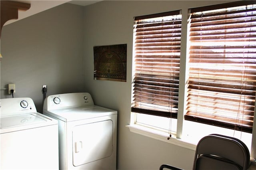
<svg viewBox="0 0 256 170">
<path fill-rule="evenodd" d="M 23 2 L 30 4 L 30 9 L 26 11 L 18 11 L 18 20 L 21 20 L 23 18 L 26 18 L 28 16 L 32 16 L 34 14 L 37 14 L 39 12 L 48 10 L 50 8 L 53 8 L 55 6 L 64 4 L 64 3 L 71 3 L 81 6 L 86 6 L 90 4 L 94 4 L 96 2 L 100 2 L 101 0 L 14 0 L 17 2 Z M 18 20 L 9 20 L 4 25 L 10 24 L 12 22 L 16 22 Z"/>
</svg>

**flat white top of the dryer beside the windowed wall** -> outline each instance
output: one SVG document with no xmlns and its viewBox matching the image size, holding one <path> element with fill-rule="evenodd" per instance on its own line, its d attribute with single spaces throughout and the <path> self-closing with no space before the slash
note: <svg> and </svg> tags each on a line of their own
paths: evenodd
<svg viewBox="0 0 256 170">
<path fill-rule="evenodd" d="M 107 109 L 104 107 L 91 105 L 85 107 L 74 107 L 74 108 L 67 108 L 67 109 L 56 109 L 56 110 L 44 110 L 44 113 L 51 115 L 57 119 L 60 119 L 65 122 L 70 121 L 78 121 L 83 119 L 90 119 L 95 117 L 102 117 L 108 115 L 117 114 L 117 111 L 112 109 Z"/>
</svg>

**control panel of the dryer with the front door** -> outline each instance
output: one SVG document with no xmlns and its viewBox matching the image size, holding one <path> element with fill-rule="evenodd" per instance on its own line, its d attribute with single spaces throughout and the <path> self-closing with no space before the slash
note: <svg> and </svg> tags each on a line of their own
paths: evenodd
<svg viewBox="0 0 256 170">
<path fill-rule="evenodd" d="M 44 100 L 44 110 L 64 109 L 94 105 L 89 93 L 50 95 Z"/>
</svg>

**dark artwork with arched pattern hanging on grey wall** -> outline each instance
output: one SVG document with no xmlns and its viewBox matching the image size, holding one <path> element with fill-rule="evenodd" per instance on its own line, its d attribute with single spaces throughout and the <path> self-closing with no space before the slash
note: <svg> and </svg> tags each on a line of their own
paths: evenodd
<svg viewBox="0 0 256 170">
<path fill-rule="evenodd" d="M 126 81 L 127 44 L 95 46 L 94 79 Z"/>
</svg>

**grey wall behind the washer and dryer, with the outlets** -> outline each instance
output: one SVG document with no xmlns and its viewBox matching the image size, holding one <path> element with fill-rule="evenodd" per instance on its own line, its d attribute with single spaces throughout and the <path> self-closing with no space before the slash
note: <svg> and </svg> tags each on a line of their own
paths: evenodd
<svg viewBox="0 0 256 170">
<path fill-rule="evenodd" d="M 31 97 L 38 112 L 42 85 L 47 95 L 84 91 L 82 18 L 82 6 L 64 4 L 4 26 L 0 87 L 15 83 L 14 97 Z"/>
</svg>

